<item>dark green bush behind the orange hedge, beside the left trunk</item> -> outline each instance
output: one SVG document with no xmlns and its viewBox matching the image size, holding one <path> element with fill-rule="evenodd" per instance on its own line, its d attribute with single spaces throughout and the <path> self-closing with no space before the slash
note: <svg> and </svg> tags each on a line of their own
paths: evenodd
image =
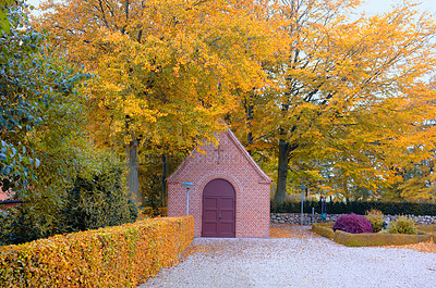
<svg viewBox="0 0 436 288">
<path fill-rule="evenodd" d="M 61 212 L 69 231 L 134 222 L 137 208 L 125 186 L 125 163 L 104 153 L 90 175 L 81 175 L 68 190 Z"/>
</svg>

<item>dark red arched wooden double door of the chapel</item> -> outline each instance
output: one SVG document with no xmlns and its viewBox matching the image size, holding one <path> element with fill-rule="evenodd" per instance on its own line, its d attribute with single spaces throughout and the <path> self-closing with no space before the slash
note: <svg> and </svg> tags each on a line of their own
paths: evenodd
<svg viewBox="0 0 436 288">
<path fill-rule="evenodd" d="M 233 186 L 225 179 L 209 181 L 203 190 L 202 237 L 235 237 Z"/>
</svg>

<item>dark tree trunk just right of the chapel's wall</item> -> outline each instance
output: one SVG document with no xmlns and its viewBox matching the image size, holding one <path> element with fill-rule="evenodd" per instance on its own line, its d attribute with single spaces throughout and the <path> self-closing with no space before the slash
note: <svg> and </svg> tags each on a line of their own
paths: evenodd
<svg viewBox="0 0 436 288">
<path fill-rule="evenodd" d="M 277 175 L 277 189 L 274 196 L 274 203 L 280 205 L 284 201 L 286 186 L 288 180 L 289 142 L 279 140 L 279 165 Z"/>
</svg>

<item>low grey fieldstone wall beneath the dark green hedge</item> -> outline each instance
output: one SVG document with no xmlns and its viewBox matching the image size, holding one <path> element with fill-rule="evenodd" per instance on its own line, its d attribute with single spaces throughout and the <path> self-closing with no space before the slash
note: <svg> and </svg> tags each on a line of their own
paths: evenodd
<svg viewBox="0 0 436 288">
<path fill-rule="evenodd" d="M 304 213 L 303 224 L 311 225 L 313 223 L 320 222 L 336 222 L 342 214 L 327 214 L 326 218 L 323 220 L 320 214 L 315 213 L 314 215 Z M 398 215 L 385 215 L 389 216 L 390 221 L 396 221 Z M 436 216 L 414 216 L 405 215 L 408 218 L 413 218 L 416 224 L 429 225 L 436 224 Z M 271 213 L 271 223 L 287 223 L 287 224 L 300 224 L 301 214 L 300 213 Z"/>
</svg>

